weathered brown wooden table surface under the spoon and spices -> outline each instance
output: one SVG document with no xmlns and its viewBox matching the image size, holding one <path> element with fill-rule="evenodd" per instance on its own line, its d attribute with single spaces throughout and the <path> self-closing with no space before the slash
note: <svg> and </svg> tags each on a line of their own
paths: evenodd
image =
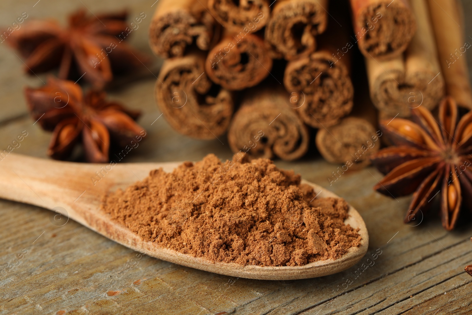
<svg viewBox="0 0 472 315">
<path fill-rule="evenodd" d="M 29 18 L 57 17 L 64 23 L 73 9 L 100 12 L 122 7 L 116 2 L 126 2 L 81 0 L 66 4 L 41 0 L 34 5 L 35 1 L 2 1 L 2 25 L 13 22 L 22 12 L 27 12 Z M 151 7 L 153 2 L 140 0 L 127 5 L 131 17 L 146 14 L 131 39 L 142 51 L 150 52 L 147 27 L 155 8 Z M 464 5 L 470 14 L 472 3 Z M 468 23 L 467 34 L 472 34 L 472 21 Z M 467 54 L 472 64 L 471 51 Z M 123 162 L 195 161 L 207 153 L 230 158 L 225 137 L 220 137 L 224 145 L 216 139 L 192 140 L 178 135 L 160 117 L 153 96 L 159 65 L 156 59 L 148 77 L 122 83 L 110 91 L 111 98 L 143 110 L 139 123 L 149 134 Z M 6 148 L 25 130 L 28 136 L 14 152 L 47 158 L 45 148 L 51 134 L 28 116 L 22 92 L 25 85 L 42 85 L 46 76 L 26 77 L 22 62 L 6 44 L 0 45 L 0 66 L 0 148 Z M 329 186 L 328 178 L 337 171 L 337 165 L 322 161 L 313 149 L 301 161 L 276 163 L 343 196 L 361 213 L 369 230 L 370 246 L 357 265 L 345 272 L 307 280 L 232 278 L 139 255 L 74 221 L 58 223 L 51 211 L 0 200 L 0 312 L 471 314 L 472 278 L 464 272 L 464 266 L 472 264 L 470 223 L 453 232 L 443 230 L 436 215 L 404 224 L 410 196 L 392 199 L 374 192 L 371 187 L 381 174 L 371 167 L 347 171 Z M 361 264 L 368 262 L 371 266 L 363 270 Z"/>
</svg>

